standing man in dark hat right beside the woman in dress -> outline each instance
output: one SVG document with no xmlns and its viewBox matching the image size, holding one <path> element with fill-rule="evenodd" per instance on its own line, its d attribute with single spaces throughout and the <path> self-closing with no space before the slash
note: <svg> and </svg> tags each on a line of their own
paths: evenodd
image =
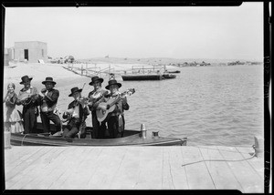
<svg viewBox="0 0 274 195">
<path fill-rule="evenodd" d="M 19 91 L 16 105 L 23 105 L 23 125 L 24 133 L 37 132 L 37 116 L 38 116 L 38 92 L 37 87 L 31 86 L 32 77 L 21 77 L 21 85 L 24 87 Z"/>
</svg>

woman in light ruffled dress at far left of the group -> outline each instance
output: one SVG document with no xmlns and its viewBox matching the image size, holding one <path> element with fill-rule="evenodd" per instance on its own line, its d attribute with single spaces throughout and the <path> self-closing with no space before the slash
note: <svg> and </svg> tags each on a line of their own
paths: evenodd
<svg viewBox="0 0 274 195">
<path fill-rule="evenodd" d="M 22 118 L 16 109 L 17 95 L 15 89 L 16 85 L 14 83 L 7 85 L 7 93 L 4 98 L 4 128 L 11 133 L 23 133 Z"/>
</svg>

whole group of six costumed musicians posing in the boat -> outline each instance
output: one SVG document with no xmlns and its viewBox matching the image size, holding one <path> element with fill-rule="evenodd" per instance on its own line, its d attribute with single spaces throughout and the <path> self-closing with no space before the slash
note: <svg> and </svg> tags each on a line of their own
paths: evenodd
<svg viewBox="0 0 274 195">
<path fill-rule="evenodd" d="M 124 110 L 130 108 L 126 95 L 131 95 L 135 91 L 130 89 L 121 93 L 119 91 L 121 83 L 115 78 L 111 77 L 108 86 L 104 89 L 101 87 L 103 78 L 91 77 L 90 86 L 94 88 L 88 97 L 81 96 L 83 87 L 72 87 L 68 97 L 73 97 L 73 101 L 61 115 L 57 108 L 59 91 L 55 88 L 57 83 L 52 77 L 46 77 L 42 82 L 45 88 L 42 88 L 40 92 L 36 87 L 31 86 L 32 77 L 24 76 L 21 79 L 20 84 L 24 87 L 19 91 L 18 96 L 14 96 L 14 105 L 23 106 L 22 114 L 18 110 L 16 114 L 20 114 L 24 129 L 17 130 L 17 133 L 37 133 L 37 117 L 40 116 L 44 132 L 53 136 L 61 133 L 64 138 L 83 139 L 86 136 L 86 118 L 91 114 L 92 139 L 104 139 L 107 129 L 111 139 L 123 137 Z M 7 97 L 11 96 L 10 90 L 15 94 L 14 89 L 14 84 L 8 85 L 8 92 L 4 99 L 6 110 L 10 109 L 8 107 L 10 98 Z M 6 115 L 4 121 L 7 128 L 13 124 L 8 118 L 9 116 Z M 54 128 L 50 128 L 50 121 L 54 123 Z M 65 122 L 67 125 L 62 128 Z"/>
</svg>

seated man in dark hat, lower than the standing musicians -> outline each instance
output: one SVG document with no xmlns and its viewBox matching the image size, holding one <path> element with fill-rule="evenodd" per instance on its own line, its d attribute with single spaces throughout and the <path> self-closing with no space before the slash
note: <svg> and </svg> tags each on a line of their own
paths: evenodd
<svg viewBox="0 0 274 195">
<path fill-rule="evenodd" d="M 64 112 L 63 118 L 68 119 L 68 125 L 64 128 L 64 138 L 75 138 L 80 134 L 84 138 L 85 136 L 85 120 L 90 115 L 89 107 L 86 103 L 82 104 L 81 91 L 79 87 L 73 87 L 70 89 L 71 93 L 68 97 L 74 97 L 74 100 L 68 105 L 68 110 Z"/>
</svg>

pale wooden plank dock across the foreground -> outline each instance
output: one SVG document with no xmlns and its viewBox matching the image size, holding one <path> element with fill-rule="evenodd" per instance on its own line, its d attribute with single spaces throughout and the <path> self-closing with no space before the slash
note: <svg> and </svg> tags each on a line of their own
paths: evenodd
<svg viewBox="0 0 274 195">
<path fill-rule="evenodd" d="M 263 155 L 250 159 L 253 152 L 221 146 L 12 146 L 5 149 L 5 190 L 264 192 Z"/>
</svg>

